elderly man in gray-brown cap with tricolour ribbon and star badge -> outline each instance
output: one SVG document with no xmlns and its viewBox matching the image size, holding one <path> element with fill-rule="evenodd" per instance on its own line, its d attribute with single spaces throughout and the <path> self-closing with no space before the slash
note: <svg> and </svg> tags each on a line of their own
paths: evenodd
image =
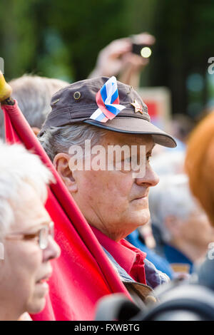
<svg viewBox="0 0 214 335">
<path fill-rule="evenodd" d="M 166 276 L 124 238 L 150 218 L 154 145 L 173 148 L 175 141 L 150 122 L 138 93 L 114 77 L 73 83 L 51 106 L 39 133 L 46 153 L 129 292 L 136 291 L 132 283 L 156 287 Z M 112 148 L 121 151 L 111 155 Z"/>
</svg>

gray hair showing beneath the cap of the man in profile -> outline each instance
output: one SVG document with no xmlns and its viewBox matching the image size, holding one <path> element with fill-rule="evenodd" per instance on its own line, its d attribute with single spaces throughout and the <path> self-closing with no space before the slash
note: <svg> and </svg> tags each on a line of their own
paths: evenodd
<svg viewBox="0 0 214 335">
<path fill-rule="evenodd" d="M 51 127 L 44 130 L 39 141 L 53 162 L 57 153 L 68 153 L 71 145 L 80 145 L 84 149 L 85 140 L 91 140 L 93 145 L 101 143 L 102 138 L 109 132 L 87 123 L 75 123 L 61 127 Z"/>
</svg>

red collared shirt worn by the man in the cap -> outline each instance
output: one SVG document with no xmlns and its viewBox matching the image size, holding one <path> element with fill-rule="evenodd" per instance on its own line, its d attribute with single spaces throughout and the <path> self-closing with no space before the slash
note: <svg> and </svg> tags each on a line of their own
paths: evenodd
<svg viewBox="0 0 214 335">
<path fill-rule="evenodd" d="M 146 284 L 146 274 L 144 268 L 144 259 L 146 253 L 134 247 L 126 239 L 119 242 L 113 241 L 105 234 L 91 227 L 96 235 L 98 242 L 111 254 L 116 262 L 136 281 Z"/>
</svg>

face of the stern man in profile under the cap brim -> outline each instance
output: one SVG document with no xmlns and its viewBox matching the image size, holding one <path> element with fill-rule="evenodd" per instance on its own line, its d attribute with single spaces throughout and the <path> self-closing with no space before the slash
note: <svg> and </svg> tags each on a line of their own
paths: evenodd
<svg viewBox="0 0 214 335">
<path fill-rule="evenodd" d="M 73 172 L 77 183 L 74 200 L 88 223 L 116 241 L 126 237 L 150 218 L 149 187 L 158 183 L 158 176 L 149 164 L 154 146 L 151 135 L 132 135 L 108 132 L 100 143 L 108 152 L 108 145 L 146 146 L 145 175 L 133 177 L 133 170 L 83 170 Z M 140 150 L 138 150 L 138 160 Z M 122 167 L 123 167 L 122 156 Z M 114 163 L 116 163 L 114 161 Z"/>
</svg>

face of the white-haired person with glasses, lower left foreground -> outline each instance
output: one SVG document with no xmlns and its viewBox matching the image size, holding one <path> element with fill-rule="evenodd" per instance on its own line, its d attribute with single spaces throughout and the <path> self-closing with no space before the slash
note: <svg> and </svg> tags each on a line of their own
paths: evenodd
<svg viewBox="0 0 214 335">
<path fill-rule="evenodd" d="M 14 204 L 15 222 L 6 236 L 15 232 L 29 234 L 29 239 L 4 239 L 4 260 L 0 260 L 0 301 L 11 315 L 24 311 L 37 313 L 44 308 L 49 290 L 46 280 L 51 276 L 50 259 L 58 257 L 60 249 L 49 236 L 48 247 L 40 249 L 30 238 L 51 222 L 49 214 L 32 187 L 21 190 L 21 207 Z M 1 309 L 1 307 L 0 307 Z"/>
</svg>

